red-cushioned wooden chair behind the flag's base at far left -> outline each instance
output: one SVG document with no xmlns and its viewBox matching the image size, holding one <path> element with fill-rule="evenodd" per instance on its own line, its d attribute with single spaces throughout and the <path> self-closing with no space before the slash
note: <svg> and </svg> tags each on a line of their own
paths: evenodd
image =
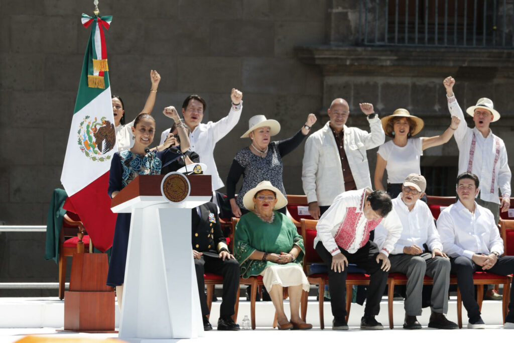
<svg viewBox="0 0 514 343">
<path fill-rule="evenodd" d="M 77 214 L 67 211 L 63 216 L 61 233 L 59 234 L 59 299 L 64 299 L 66 281 L 66 257 L 73 257 L 78 252 L 89 252 L 89 236 Z"/>
</svg>

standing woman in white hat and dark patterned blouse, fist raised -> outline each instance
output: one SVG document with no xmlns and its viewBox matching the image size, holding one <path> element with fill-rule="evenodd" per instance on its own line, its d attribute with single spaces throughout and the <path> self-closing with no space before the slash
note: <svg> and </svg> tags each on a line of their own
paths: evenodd
<svg viewBox="0 0 514 343">
<path fill-rule="evenodd" d="M 280 123 L 274 119 L 266 119 L 263 115 L 253 116 L 248 121 L 248 131 L 241 138 L 249 137 L 250 146 L 240 150 L 232 161 L 227 176 L 227 196 L 230 200 L 232 213 L 236 217 L 247 212 L 243 204 L 246 192 L 255 187 L 262 180 L 269 180 L 271 184 L 283 194 L 286 194 L 282 182 L 282 157 L 295 150 L 310 132 L 316 122 L 316 116 L 309 114 L 307 121 L 291 138 L 271 142 L 271 136 L 280 131 Z M 243 185 L 235 199 L 235 185 L 243 175 Z M 279 209 L 285 213 L 285 208 Z"/>
</svg>

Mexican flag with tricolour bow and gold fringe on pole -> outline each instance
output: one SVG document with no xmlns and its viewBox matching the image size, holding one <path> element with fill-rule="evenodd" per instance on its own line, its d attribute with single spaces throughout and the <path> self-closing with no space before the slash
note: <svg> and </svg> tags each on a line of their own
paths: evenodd
<svg viewBox="0 0 514 343">
<path fill-rule="evenodd" d="M 104 36 L 111 21 L 112 16 L 82 14 L 82 25 L 91 26 L 91 33 L 61 174 L 69 197 L 65 209 L 80 216 L 101 251 L 112 246 L 116 224 L 107 194 L 112 156 L 118 151 Z"/>
</svg>

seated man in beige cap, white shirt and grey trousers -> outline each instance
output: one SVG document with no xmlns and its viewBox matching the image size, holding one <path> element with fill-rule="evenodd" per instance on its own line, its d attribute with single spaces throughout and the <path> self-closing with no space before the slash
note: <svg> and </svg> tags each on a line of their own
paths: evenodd
<svg viewBox="0 0 514 343">
<path fill-rule="evenodd" d="M 432 212 L 419 199 L 425 194 L 427 180 L 419 174 L 409 174 L 402 191 L 393 199 L 393 211 L 401 221 L 399 240 L 389 255 L 390 273 L 407 275 L 405 321 L 403 329 L 421 329 L 416 316 L 421 315 L 421 291 L 425 275 L 433 278 L 429 328 L 456 329 L 457 324 L 446 319 L 448 313 L 448 287 L 450 286 L 450 260 L 443 252 L 443 244 L 435 228 Z M 375 230 L 375 243 L 381 246 L 387 230 Z M 428 250 L 425 250 L 424 245 Z"/>
</svg>

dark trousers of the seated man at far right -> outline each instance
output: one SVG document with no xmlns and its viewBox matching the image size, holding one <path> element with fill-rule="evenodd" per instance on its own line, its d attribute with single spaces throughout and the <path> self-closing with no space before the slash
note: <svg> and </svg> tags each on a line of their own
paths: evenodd
<svg viewBox="0 0 514 343">
<path fill-rule="evenodd" d="M 473 285 L 473 273 L 482 272 L 483 269 L 466 256 L 451 258 L 451 272 L 457 275 L 457 286 L 461 290 L 462 303 L 468 311 L 468 318 L 476 318 L 480 316 L 479 304 L 475 300 L 475 289 Z M 485 270 L 499 275 L 510 275 L 514 273 L 514 256 L 501 256 L 491 269 Z M 510 302 L 509 313 L 505 318 L 508 322 L 514 322 L 514 298 L 512 290 L 514 289 L 514 281 L 510 285 Z M 504 294 L 504 297 L 507 295 Z"/>
</svg>

